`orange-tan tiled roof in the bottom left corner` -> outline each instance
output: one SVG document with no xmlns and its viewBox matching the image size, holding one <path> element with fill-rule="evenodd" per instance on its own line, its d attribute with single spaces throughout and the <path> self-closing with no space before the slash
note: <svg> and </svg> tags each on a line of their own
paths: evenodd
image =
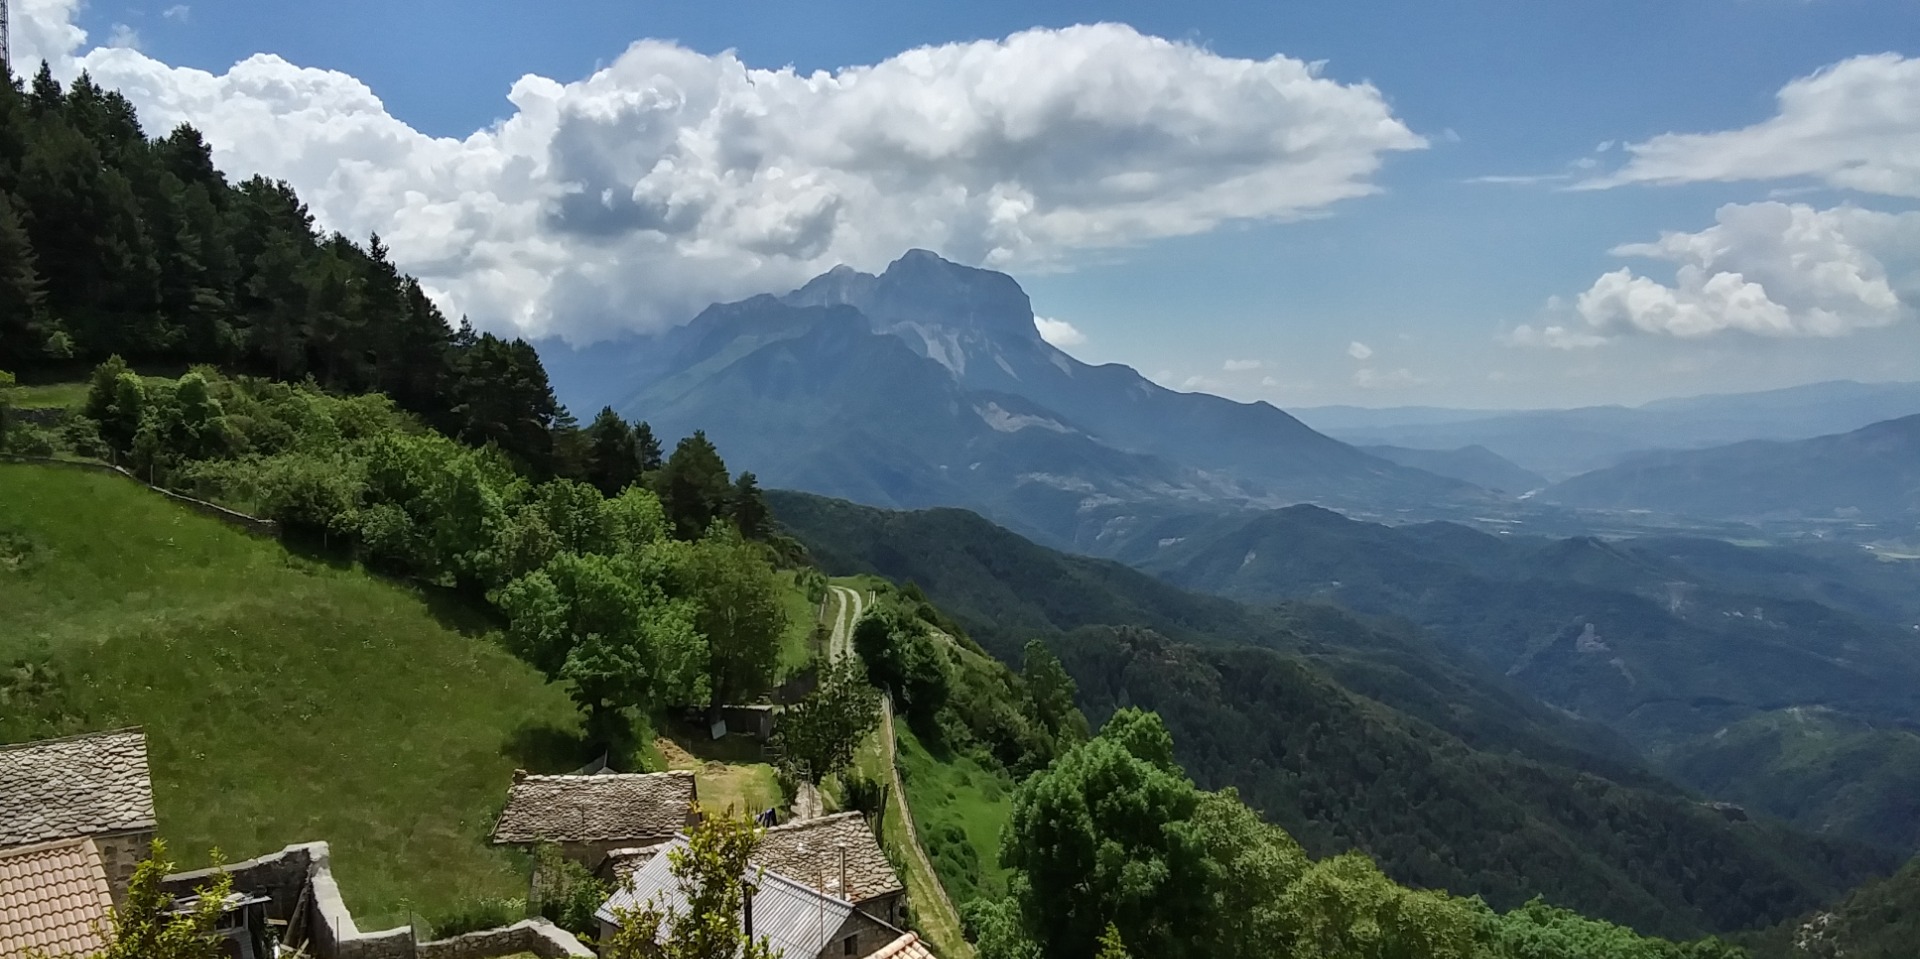
<svg viewBox="0 0 1920 959">
<path fill-rule="evenodd" d="M 94 840 L 0 851 L 0 959 L 60 959 L 106 949 L 113 892 Z"/>
</svg>

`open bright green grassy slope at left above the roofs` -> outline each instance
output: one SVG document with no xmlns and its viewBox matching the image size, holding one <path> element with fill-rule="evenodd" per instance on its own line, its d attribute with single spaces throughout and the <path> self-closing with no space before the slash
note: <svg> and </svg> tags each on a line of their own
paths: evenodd
<svg viewBox="0 0 1920 959">
<path fill-rule="evenodd" d="M 184 863 L 326 840 L 363 928 L 524 894 L 486 834 L 515 767 L 582 759 L 578 721 L 470 623 L 81 471 L 0 465 L 0 663 L 50 663 L 69 713 L 0 736 L 144 725 Z"/>
</svg>

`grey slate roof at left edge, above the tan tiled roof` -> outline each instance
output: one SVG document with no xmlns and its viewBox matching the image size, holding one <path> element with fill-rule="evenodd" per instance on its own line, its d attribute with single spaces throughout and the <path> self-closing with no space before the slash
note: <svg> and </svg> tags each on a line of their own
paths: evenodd
<svg viewBox="0 0 1920 959">
<path fill-rule="evenodd" d="M 154 828 L 138 728 L 0 746 L 0 848 Z"/>
</svg>

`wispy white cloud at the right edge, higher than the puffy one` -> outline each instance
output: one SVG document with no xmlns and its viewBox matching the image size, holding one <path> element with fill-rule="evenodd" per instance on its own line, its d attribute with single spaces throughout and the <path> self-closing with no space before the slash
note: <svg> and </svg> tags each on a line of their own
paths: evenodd
<svg viewBox="0 0 1920 959">
<path fill-rule="evenodd" d="M 1628 163 L 1584 186 L 1770 181 L 1920 196 L 1920 60 L 1857 56 L 1799 77 L 1772 117 L 1734 131 L 1668 133 L 1626 144 Z"/>
</svg>

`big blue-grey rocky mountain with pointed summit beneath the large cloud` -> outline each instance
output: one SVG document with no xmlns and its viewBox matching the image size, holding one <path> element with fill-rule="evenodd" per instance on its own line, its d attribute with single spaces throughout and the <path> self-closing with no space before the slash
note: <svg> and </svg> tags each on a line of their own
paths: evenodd
<svg viewBox="0 0 1920 959">
<path fill-rule="evenodd" d="M 879 275 L 714 304 L 566 394 L 664 436 L 705 429 L 770 486 L 872 505 L 964 505 L 1060 546 L 1131 523 L 1313 502 L 1348 509 L 1486 498 L 1313 432 L 1269 404 L 1167 390 L 1041 338 L 1004 275 L 910 250 Z M 616 381 L 618 388 L 612 388 Z"/>
</svg>

